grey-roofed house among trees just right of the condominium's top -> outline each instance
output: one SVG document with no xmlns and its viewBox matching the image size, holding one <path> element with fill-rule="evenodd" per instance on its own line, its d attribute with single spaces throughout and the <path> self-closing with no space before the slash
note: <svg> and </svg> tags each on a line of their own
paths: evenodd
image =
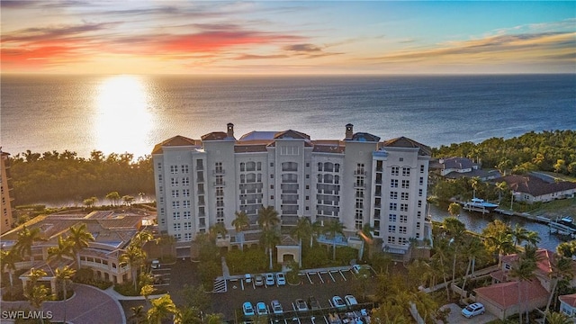
<svg viewBox="0 0 576 324">
<path fill-rule="evenodd" d="M 500 177 L 498 170 L 484 170 L 468 157 L 448 157 L 430 161 L 430 169 L 449 179 L 478 177 L 482 181 Z"/>
</svg>

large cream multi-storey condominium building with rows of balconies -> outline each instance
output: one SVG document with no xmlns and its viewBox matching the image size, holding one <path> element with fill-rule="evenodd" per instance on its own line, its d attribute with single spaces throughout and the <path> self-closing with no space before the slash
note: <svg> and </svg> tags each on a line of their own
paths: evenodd
<svg viewBox="0 0 576 324">
<path fill-rule="evenodd" d="M 381 141 L 351 124 L 344 139 L 312 140 L 296 130 L 235 139 L 229 123 L 202 139 L 166 139 L 152 157 L 158 228 L 180 245 L 218 222 L 234 232 L 236 211 L 256 225 L 263 206 L 278 211 L 283 227 L 299 217 L 339 220 L 356 235 L 370 224 L 392 253 L 428 237 L 430 149 L 411 139 Z"/>
</svg>

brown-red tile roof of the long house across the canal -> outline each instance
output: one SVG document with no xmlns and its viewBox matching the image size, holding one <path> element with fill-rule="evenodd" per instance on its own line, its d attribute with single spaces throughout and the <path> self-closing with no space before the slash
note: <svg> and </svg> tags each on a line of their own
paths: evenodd
<svg viewBox="0 0 576 324">
<path fill-rule="evenodd" d="M 506 175 L 497 181 L 505 181 L 509 188 L 518 193 L 528 193 L 534 197 L 548 193 L 559 193 L 576 189 L 576 183 L 569 181 L 546 182 L 535 175 Z"/>
</svg>

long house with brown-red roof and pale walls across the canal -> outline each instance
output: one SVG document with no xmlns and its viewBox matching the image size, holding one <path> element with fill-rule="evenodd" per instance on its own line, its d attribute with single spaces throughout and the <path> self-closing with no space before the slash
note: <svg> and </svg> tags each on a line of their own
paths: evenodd
<svg viewBox="0 0 576 324">
<path fill-rule="evenodd" d="M 496 181 L 505 181 L 517 202 L 551 202 L 556 199 L 574 198 L 576 183 L 554 181 L 542 175 L 506 175 Z"/>
</svg>

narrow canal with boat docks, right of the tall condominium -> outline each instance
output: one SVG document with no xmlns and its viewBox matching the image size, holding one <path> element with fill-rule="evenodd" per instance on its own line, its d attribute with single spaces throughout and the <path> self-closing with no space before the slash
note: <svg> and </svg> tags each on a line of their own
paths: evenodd
<svg viewBox="0 0 576 324">
<path fill-rule="evenodd" d="M 449 217 L 448 206 L 446 208 L 444 205 L 435 206 L 432 205 L 430 208 L 430 214 L 432 215 L 432 220 L 443 221 L 446 217 Z M 540 235 L 540 242 L 538 247 L 547 248 L 555 251 L 558 244 L 562 243 L 563 240 L 556 236 L 555 234 L 550 234 L 548 225 L 537 223 L 534 221 L 529 221 L 518 216 L 508 216 L 499 213 L 489 213 L 482 215 L 481 212 L 474 211 L 461 211 L 458 220 L 462 221 L 466 225 L 466 229 L 472 230 L 476 233 L 482 233 L 482 229 L 485 229 L 489 222 L 492 220 L 502 220 L 510 224 L 512 228 L 519 224 L 525 229 L 536 231 Z"/>
</svg>

